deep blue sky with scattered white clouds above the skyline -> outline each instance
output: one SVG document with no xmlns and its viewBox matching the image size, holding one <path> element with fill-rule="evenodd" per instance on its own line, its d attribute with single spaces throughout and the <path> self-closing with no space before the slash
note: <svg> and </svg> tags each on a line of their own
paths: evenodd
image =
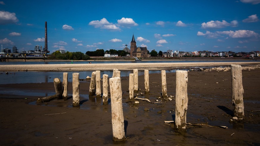
<svg viewBox="0 0 260 146">
<path fill-rule="evenodd" d="M 260 50 L 260 0 L 0 0 L 0 45 L 122 50 L 134 34 L 149 51 Z"/>
</svg>

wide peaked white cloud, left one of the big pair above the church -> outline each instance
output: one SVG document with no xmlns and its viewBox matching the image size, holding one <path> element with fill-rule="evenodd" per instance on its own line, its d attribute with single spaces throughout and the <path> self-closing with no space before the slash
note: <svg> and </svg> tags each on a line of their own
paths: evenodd
<svg viewBox="0 0 260 146">
<path fill-rule="evenodd" d="M 95 28 L 108 29 L 110 31 L 118 31 L 121 30 L 113 23 L 109 23 L 106 18 L 102 18 L 101 20 L 94 20 L 88 23 L 88 25 L 94 26 Z"/>
</svg>

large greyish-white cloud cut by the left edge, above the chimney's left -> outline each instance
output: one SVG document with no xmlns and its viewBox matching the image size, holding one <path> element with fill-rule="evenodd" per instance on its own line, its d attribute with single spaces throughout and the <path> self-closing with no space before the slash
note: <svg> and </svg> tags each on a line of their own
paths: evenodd
<svg viewBox="0 0 260 146">
<path fill-rule="evenodd" d="M 19 20 L 16 18 L 15 13 L 0 11 L 0 24 L 16 23 Z"/>
</svg>

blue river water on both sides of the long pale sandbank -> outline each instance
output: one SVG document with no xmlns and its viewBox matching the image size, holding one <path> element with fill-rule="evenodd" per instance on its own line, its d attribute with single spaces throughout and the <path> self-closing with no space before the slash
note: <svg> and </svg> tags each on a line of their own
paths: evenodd
<svg viewBox="0 0 260 146">
<path fill-rule="evenodd" d="M 167 62 L 260 62 L 253 60 L 205 60 L 205 61 L 92 61 L 95 63 L 167 63 Z M 88 64 L 88 61 L 73 61 L 73 64 Z M 29 64 L 71 64 L 68 61 L 61 62 L 0 62 L 1 65 L 29 65 Z M 196 67 L 194 67 L 196 68 Z M 202 67 L 211 68 L 211 67 Z M 68 72 L 68 81 L 72 81 L 72 73 L 77 71 Z M 176 70 L 166 70 L 166 73 L 176 72 Z M 78 71 L 80 73 L 80 79 L 86 79 L 87 76 L 91 77 L 92 71 Z M 121 76 L 129 76 L 133 71 L 121 71 Z M 159 70 L 149 71 L 149 73 L 161 73 Z M 113 71 L 101 71 L 101 78 L 103 74 L 107 74 L 108 77 L 112 77 Z M 138 71 L 138 75 L 143 75 L 144 71 Z M 17 84 L 17 83 L 44 83 L 53 82 L 54 78 L 63 78 L 63 72 L 33 72 L 33 71 L 17 71 L 17 72 L 0 72 L 0 84 Z"/>
</svg>

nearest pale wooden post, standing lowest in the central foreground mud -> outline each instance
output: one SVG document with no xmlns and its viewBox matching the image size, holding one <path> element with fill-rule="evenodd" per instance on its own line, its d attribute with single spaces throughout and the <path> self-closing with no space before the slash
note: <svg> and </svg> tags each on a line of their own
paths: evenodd
<svg viewBox="0 0 260 146">
<path fill-rule="evenodd" d="M 109 85 L 111 97 L 113 141 L 121 142 L 125 140 L 125 133 L 122 105 L 122 87 L 120 78 L 110 78 Z"/>
</svg>

